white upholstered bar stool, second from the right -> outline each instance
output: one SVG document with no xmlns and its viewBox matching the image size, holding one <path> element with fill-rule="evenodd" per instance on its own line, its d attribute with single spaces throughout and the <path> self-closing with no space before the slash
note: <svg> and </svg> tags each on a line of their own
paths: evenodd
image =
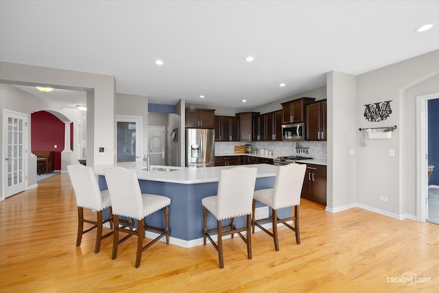
<svg viewBox="0 0 439 293">
<path fill-rule="evenodd" d="M 257 168 L 234 167 L 223 169 L 219 174 L 218 191 L 216 196 L 209 196 L 202 199 L 204 206 L 204 229 L 203 242 L 206 245 L 206 237 L 218 252 L 219 268 L 224 268 L 222 237 L 237 233 L 247 244 L 248 259 L 252 259 L 252 237 L 251 237 L 251 212 L 254 183 L 256 183 Z M 207 230 L 207 211 L 217 219 L 217 228 Z M 235 217 L 247 215 L 247 223 L 243 228 L 236 228 Z M 228 226 L 222 226 L 222 220 L 232 219 Z M 247 232 L 244 237 L 241 232 Z M 217 233 L 216 244 L 210 233 Z"/>
</svg>

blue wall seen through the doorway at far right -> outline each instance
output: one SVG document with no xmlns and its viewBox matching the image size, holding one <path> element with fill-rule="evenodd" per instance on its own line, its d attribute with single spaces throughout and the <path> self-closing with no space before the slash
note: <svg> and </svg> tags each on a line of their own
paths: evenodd
<svg viewBox="0 0 439 293">
<path fill-rule="evenodd" d="M 439 185 L 439 99 L 428 101 L 428 164 L 434 165 L 429 185 Z"/>
</svg>

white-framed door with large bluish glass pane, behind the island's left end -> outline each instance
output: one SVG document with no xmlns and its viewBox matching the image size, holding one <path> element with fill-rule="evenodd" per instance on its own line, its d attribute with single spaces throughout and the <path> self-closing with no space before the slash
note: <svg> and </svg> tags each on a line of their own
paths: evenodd
<svg viewBox="0 0 439 293">
<path fill-rule="evenodd" d="M 117 162 L 140 161 L 142 145 L 142 117 L 116 116 Z"/>
</svg>

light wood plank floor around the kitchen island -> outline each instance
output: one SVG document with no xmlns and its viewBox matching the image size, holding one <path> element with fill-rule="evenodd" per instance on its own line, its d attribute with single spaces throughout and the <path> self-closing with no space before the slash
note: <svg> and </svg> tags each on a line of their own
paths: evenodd
<svg viewBox="0 0 439 293">
<path fill-rule="evenodd" d="M 327 213 L 307 200 L 300 224 L 300 245 L 279 228 L 279 252 L 255 233 L 252 260 L 239 237 L 224 240 L 223 270 L 211 244 L 163 242 L 145 250 L 136 269 L 134 237 L 115 260 L 112 238 L 97 255 L 94 233 L 75 247 L 75 197 L 60 174 L 0 202 L 0 292 L 439 292 L 438 225 L 358 208 Z M 417 283 L 401 283 L 408 273 Z"/>
</svg>

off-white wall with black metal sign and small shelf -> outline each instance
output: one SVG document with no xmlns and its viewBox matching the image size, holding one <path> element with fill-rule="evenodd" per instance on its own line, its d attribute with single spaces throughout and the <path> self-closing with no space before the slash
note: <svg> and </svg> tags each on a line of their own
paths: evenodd
<svg viewBox="0 0 439 293">
<path fill-rule="evenodd" d="M 357 128 L 398 127 L 392 139 L 365 139 L 364 147 L 357 142 L 358 204 L 394 218 L 416 218 L 415 97 L 438 92 L 438 74 L 436 50 L 357 76 Z M 369 122 L 363 117 L 364 105 L 388 100 L 388 119 Z M 390 149 L 395 156 L 389 156 Z"/>
</svg>

